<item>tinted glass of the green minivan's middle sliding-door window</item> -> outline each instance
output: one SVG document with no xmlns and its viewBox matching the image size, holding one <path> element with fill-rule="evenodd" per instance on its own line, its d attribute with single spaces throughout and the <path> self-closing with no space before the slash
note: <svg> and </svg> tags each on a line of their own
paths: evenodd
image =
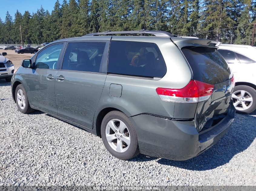
<svg viewBox="0 0 256 191">
<path fill-rule="evenodd" d="M 69 43 L 62 70 L 99 72 L 105 43 Z"/>
</svg>

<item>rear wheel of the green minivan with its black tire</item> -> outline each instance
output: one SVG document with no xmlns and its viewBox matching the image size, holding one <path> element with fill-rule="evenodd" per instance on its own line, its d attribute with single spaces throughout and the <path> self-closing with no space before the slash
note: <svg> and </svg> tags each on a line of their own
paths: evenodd
<svg viewBox="0 0 256 191">
<path fill-rule="evenodd" d="M 113 131 L 108 125 L 110 123 L 115 124 L 112 127 L 117 130 L 121 127 L 120 125 L 118 127 L 118 124 L 122 123 L 124 125 L 124 128 L 122 128 L 122 130 L 120 129 L 122 132 Z M 109 141 L 107 140 L 107 133 L 109 137 L 112 135 L 112 140 L 111 138 L 108 138 Z M 139 154 L 138 139 L 135 129 L 125 113 L 111 111 L 105 115 L 101 123 L 101 138 L 108 152 L 116 158 L 129 160 Z M 125 142 L 126 140 L 130 140 L 129 145 Z M 118 142 L 120 144 L 118 144 Z M 120 145 L 120 147 L 118 147 L 118 145 Z"/>
</svg>

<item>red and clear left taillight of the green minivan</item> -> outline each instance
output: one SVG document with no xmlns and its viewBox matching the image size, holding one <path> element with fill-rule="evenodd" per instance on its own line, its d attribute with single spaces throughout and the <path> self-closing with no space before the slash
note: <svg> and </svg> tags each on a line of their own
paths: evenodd
<svg viewBox="0 0 256 191">
<path fill-rule="evenodd" d="M 156 88 L 156 92 L 163 101 L 180 103 L 197 103 L 211 97 L 214 85 L 191 80 L 184 88 Z"/>
</svg>

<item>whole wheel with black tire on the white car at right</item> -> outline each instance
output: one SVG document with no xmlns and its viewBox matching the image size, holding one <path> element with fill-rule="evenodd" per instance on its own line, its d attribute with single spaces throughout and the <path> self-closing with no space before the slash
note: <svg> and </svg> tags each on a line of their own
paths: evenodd
<svg viewBox="0 0 256 191">
<path fill-rule="evenodd" d="M 256 109 L 256 90 L 246 85 L 235 86 L 232 100 L 238 113 L 251 113 Z"/>
</svg>

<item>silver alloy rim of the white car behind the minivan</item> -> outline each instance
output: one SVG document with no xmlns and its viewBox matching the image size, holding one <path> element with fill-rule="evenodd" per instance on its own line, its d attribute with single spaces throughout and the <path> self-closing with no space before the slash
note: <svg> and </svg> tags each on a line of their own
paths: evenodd
<svg viewBox="0 0 256 191">
<path fill-rule="evenodd" d="M 244 90 L 235 91 L 232 94 L 234 107 L 236 110 L 243 111 L 251 107 L 253 99 L 250 93 Z"/>
</svg>

